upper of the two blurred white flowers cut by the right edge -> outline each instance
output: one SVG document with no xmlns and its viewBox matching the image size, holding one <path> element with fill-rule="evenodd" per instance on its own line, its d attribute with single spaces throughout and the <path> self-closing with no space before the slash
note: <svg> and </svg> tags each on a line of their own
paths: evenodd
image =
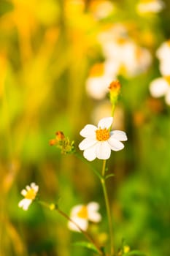
<svg viewBox="0 0 170 256">
<path fill-rule="evenodd" d="M 170 40 L 163 42 L 156 51 L 156 56 L 160 61 L 159 69 L 161 75 L 170 75 Z"/>
</svg>

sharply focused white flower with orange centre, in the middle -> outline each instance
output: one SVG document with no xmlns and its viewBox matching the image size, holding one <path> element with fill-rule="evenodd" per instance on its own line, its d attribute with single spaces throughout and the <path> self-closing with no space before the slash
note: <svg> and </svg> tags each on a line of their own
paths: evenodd
<svg viewBox="0 0 170 256">
<path fill-rule="evenodd" d="M 87 124 L 80 135 L 85 139 L 79 144 L 80 150 L 84 150 L 84 157 L 88 161 L 96 159 L 109 159 L 111 150 L 119 151 L 124 148 L 120 141 L 127 140 L 125 132 L 115 130 L 109 131 L 113 118 L 102 118 L 98 122 L 98 127 L 93 124 Z"/>
</svg>

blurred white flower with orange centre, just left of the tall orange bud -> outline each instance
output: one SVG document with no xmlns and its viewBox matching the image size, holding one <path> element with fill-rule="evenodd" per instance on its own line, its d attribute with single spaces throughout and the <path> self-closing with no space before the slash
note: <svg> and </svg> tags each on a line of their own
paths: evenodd
<svg viewBox="0 0 170 256">
<path fill-rule="evenodd" d="M 86 91 L 94 99 L 103 99 L 109 91 L 109 84 L 115 80 L 115 64 L 104 62 L 95 64 L 86 80 Z"/>
</svg>

